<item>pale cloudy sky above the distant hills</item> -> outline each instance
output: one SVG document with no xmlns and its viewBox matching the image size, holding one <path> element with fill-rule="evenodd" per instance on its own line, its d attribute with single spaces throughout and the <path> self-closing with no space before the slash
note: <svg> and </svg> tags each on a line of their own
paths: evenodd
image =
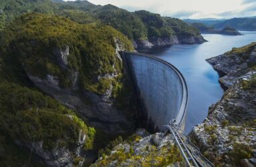
<svg viewBox="0 0 256 167">
<path fill-rule="evenodd" d="M 70 0 L 69 0 L 70 1 Z M 74 0 L 71 0 L 74 1 Z M 88 0 L 96 5 L 112 4 L 128 11 L 147 10 L 180 19 L 256 16 L 256 0 Z"/>
</svg>

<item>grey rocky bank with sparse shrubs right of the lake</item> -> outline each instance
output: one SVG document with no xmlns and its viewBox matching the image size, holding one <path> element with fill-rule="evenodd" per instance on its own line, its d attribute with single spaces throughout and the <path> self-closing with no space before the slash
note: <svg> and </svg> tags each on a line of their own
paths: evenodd
<svg viewBox="0 0 256 167">
<path fill-rule="evenodd" d="M 190 136 L 216 165 L 255 166 L 256 70 L 251 66 L 255 46 L 243 47 L 208 59 L 225 73 L 220 82 L 229 87 L 212 105 L 208 117 Z M 245 58 L 246 57 L 246 58 Z"/>
</svg>

